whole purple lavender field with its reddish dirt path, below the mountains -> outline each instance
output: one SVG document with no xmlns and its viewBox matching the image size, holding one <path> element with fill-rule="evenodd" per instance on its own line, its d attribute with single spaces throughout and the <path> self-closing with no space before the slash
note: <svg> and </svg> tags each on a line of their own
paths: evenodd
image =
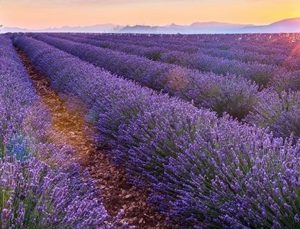
<svg viewBox="0 0 300 229">
<path fill-rule="evenodd" d="M 0 228 L 300 228 L 300 34 L 0 35 Z"/>
</svg>

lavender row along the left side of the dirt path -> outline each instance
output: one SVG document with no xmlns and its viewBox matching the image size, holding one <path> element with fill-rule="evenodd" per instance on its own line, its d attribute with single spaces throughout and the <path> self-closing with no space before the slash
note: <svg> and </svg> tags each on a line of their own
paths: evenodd
<svg viewBox="0 0 300 229">
<path fill-rule="evenodd" d="M 95 184 L 67 163 L 72 148 L 48 142 L 49 112 L 10 39 L 0 44 L 0 227 L 108 226 Z"/>
</svg>

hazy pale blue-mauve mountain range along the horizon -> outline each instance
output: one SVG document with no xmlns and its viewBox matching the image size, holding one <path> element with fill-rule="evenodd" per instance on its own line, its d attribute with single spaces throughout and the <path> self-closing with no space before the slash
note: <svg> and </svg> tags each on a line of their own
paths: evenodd
<svg viewBox="0 0 300 229">
<path fill-rule="evenodd" d="M 47 28 L 29 30 L 23 28 L 3 27 L 1 32 L 85 32 L 85 33 L 182 33 L 182 34 L 210 34 L 210 33 L 290 33 L 300 32 L 300 18 L 285 19 L 269 25 L 247 25 L 223 22 L 196 22 L 191 25 L 167 26 L 119 26 L 113 24 L 93 26 L 65 26 L 61 28 Z"/>
</svg>

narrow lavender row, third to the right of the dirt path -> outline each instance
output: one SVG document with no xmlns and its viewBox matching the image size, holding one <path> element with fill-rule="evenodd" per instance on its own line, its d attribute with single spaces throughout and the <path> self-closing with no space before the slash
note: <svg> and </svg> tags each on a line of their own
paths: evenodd
<svg viewBox="0 0 300 229">
<path fill-rule="evenodd" d="M 287 75 L 286 69 L 279 68 L 275 65 L 264 65 L 260 63 L 244 63 L 236 60 L 228 60 L 223 57 L 213 57 L 203 54 L 202 51 L 191 54 L 183 53 L 170 47 L 160 48 L 143 48 L 137 45 L 124 45 L 112 43 L 103 43 L 89 38 L 79 38 L 73 36 L 65 36 L 68 40 L 77 41 L 80 43 L 87 43 L 97 47 L 108 47 L 116 51 L 122 51 L 129 54 L 146 57 L 151 60 L 161 61 L 163 63 L 176 64 L 183 67 L 197 69 L 201 72 L 213 72 L 218 75 L 233 74 L 245 77 L 246 79 L 254 81 L 261 87 L 272 85 L 274 80 L 280 80 L 279 75 Z"/>
</svg>

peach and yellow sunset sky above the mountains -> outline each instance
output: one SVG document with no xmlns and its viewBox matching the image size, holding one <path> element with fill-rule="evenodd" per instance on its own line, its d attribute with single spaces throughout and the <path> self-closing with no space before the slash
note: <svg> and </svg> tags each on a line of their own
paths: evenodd
<svg viewBox="0 0 300 229">
<path fill-rule="evenodd" d="M 0 0 L 0 24 L 29 29 L 201 21 L 268 24 L 293 17 L 300 17 L 300 0 Z"/>
</svg>

